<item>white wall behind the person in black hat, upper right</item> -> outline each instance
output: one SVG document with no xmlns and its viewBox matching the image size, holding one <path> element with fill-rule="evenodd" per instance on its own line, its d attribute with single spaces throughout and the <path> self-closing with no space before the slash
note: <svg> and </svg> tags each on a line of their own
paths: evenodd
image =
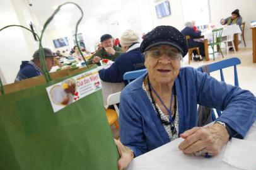
<svg viewBox="0 0 256 170">
<path fill-rule="evenodd" d="M 252 47 L 252 30 L 250 29 L 250 21 L 256 20 L 256 1 L 255 0 L 209 0 L 211 22 L 219 26 L 221 18 L 231 16 L 235 9 L 240 10 L 240 15 L 245 21 L 245 41 L 247 47 Z M 243 44 L 243 43 L 241 43 Z M 243 46 L 242 46 L 243 47 Z"/>
</svg>

